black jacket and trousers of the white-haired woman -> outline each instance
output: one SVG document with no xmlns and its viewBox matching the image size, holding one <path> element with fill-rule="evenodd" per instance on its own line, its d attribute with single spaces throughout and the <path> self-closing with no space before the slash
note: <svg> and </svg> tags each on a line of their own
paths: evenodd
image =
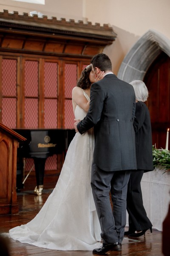
<svg viewBox="0 0 170 256">
<path fill-rule="evenodd" d="M 127 189 L 129 233 L 152 227 L 142 201 L 141 180 L 144 172 L 153 170 L 150 113 L 144 102 L 136 103 L 133 127 L 136 135 L 137 171 L 131 171 Z"/>
</svg>

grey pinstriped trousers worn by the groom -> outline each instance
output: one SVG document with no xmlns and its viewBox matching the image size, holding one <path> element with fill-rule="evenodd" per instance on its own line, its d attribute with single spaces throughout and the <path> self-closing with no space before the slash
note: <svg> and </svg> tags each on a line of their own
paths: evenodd
<svg viewBox="0 0 170 256">
<path fill-rule="evenodd" d="M 106 172 L 92 163 L 91 188 L 103 243 L 122 243 L 126 225 L 126 197 L 130 170 Z M 111 191 L 113 211 L 109 192 Z"/>
</svg>

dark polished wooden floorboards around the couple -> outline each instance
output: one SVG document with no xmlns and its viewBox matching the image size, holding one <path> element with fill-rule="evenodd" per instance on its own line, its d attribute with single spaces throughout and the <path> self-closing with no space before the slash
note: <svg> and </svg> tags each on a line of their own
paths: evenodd
<svg viewBox="0 0 170 256">
<path fill-rule="evenodd" d="M 17 202 L 19 205 L 19 214 L 16 215 L 0 215 L 0 233 L 7 233 L 9 229 L 26 224 L 40 211 L 46 199 L 52 192 L 57 177 L 51 179 L 51 173 L 45 175 L 44 189 L 41 196 L 33 193 L 35 187 L 34 172 L 28 177 L 25 187 L 17 193 Z M 127 228 L 125 229 L 127 230 Z M 161 253 L 162 232 L 158 230 L 150 230 L 145 236 L 128 239 L 125 237 L 122 241 L 122 252 L 108 252 L 108 255 L 115 256 L 163 256 Z M 9 239 L 11 256 L 91 256 L 91 251 L 59 251 L 49 250 L 34 245 L 23 244 L 19 241 Z"/>
</svg>

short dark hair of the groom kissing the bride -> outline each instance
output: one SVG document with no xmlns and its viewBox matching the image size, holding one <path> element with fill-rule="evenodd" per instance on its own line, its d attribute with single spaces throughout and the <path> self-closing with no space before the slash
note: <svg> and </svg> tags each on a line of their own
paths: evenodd
<svg viewBox="0 0 170 256">
<path fill-rule="evenodd" d="M 93 67 L 98 67 L 101 71 L 112 71 L 111 60 L 105 53 L 99 53 L 91 59 Z"/>
</svg>

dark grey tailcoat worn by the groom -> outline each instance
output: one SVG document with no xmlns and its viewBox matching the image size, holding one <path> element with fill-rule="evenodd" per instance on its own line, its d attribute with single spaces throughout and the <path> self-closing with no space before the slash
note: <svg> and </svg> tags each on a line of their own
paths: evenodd
<svg viewBox="0 0 170 256">
<path fill-rule="evenodd" d="M 94 127 L 94 163 L 104 171 L 137 169 L 132 85 L 108 74 L 92 84 L 90 100 L 89 111 L 77 129 L 83 134 Z"/>
</svg>

